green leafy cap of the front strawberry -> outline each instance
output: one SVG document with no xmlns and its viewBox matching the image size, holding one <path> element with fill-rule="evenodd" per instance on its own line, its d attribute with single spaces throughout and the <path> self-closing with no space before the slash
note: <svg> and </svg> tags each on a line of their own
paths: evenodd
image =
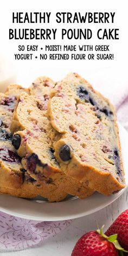
<svg viewBox="0 0 128 256">
<path fill-rule="evenodd" d="M 97 233 L 100 234 L 101 236 L 103 236 L 103 238 L 106 238 L 109 242 L 112 242 L 114 247 L 116 247 L 116 249 L 118 250 L 118 253 L 120 256 L 123 256 L 123 252 L 128 252 L 120 246 L 120 244 L 117 240 L 117 234 L 107 236 L 104 234 L 103 228 L 104 228 L 104 226 L 101 227 L 101 229 L 97 229 Z"/>
</svg>

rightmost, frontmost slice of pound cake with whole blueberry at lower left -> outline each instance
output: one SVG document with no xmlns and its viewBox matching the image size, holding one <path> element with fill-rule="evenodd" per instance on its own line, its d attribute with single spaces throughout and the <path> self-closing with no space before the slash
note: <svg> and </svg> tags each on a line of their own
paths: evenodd
<svg viewBox="0 0 128 256">
<path fill-rule="evenodd" d="M 57 82 L 50 97 L 48 116 L 59 133 L 54 156 L 62 171 L 104 195 L 123 189 L 114 107 L 76 73 Z"/>
</svg>

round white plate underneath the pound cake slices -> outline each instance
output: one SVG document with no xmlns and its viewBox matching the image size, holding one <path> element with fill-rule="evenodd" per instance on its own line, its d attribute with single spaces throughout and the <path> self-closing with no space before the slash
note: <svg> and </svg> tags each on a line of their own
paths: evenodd
<svg viewBox="0 0 128 256">
<path fill-rule="evenodd" d="M 128 184 L 128 133 L 119 124 L 119 135 L 121 142 L 121 152 L 124 163 L 126 185 Z M 125 188 L 126 189 L 126 188 Z M 111 196 L 103 196 L 94 193 L 85 200 L 79 200 L 74 197 L 72 200 L 58 203 L 34 202 L 31 200 L 20 199 L 8 195 L 0 195 L 0 210 L 24 219 L 37 221 L 57 221 L 69 220 L 82 217 L 108 206 L 124 193 L 125 189 Z"/>
</svg>

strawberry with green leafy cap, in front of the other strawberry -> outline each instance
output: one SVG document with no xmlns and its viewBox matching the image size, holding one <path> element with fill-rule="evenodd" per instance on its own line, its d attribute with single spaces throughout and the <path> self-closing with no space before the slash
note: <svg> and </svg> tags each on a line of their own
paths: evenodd
<svg viewBox="0 0 128 256">
<path fill-rule="evenodd" d="M 103 228 L 83 235 L 71 256 L 119 256 L 126 252 L 117 241 L 117 234 L 106 236 Z"/>
</svg>

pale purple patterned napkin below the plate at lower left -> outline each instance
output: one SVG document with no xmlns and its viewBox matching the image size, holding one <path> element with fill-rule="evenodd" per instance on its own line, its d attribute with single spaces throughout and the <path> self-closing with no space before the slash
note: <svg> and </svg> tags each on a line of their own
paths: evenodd
<svg viewBox="0 0 128 256">
<path fill-rule="evenodd" d="M 71 224 L 67 221 L 33 221 L 0 212 L 0 252 L 40 245 Z"/>
</svg>

